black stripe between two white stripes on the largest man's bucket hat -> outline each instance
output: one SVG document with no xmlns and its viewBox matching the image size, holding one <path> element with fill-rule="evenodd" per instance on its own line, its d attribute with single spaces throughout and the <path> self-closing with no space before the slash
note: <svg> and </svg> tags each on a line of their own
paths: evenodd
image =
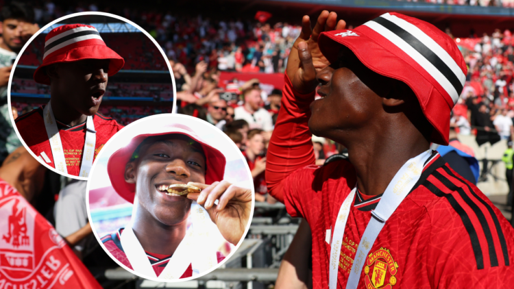
<svg viewBox="0 0 514 289">
<path fill-rule="evenodd" d="M 396 25 L 395 23 L 387 20 L 383 17 L 377 17 L 374 18 L 372 21 L 382 25 L 383 27 L 386 27 L 389 29 L 389 31 L 396 34 L 398 37 L 402 38 L 405 42 L 408 43 L 408 45 L 411 45 L 414 49 L 417 50 L 421 55 L 426 58 L 432 65 L 441 72 L 448 81 L 450 81 L 450 84 L 455 88 L 457 91 L 457 95 L 461 95 L 461 92 L 463 90 L 463 86 L 461 84 L 461 81 L 458 79 L 458 77 L 453 73 L 453 71 L 446 65 L 439 56 L 437 56 L 434 51 L 432 51 L 430 48 L 426 47 L 426 45 L 423 44 L 423 42 L 419 41 L 417 38 L 415 38 L 412 34 L 406 32 L 405 29 L 402 27 Z"/>
</svg>

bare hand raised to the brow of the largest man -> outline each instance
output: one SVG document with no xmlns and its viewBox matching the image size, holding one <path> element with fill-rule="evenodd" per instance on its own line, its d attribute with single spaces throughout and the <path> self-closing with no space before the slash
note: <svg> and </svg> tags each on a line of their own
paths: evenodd
<svg viewBox="0 0 514 289">
<path fill-rule="evenodd" d="M 317 86 L 317 71 L 330 65 L 319 50 L 317 42 L 319 34 L 334 29 L 345 29 L 345 27 L 345 21 L 337 22 L 336 12 L 329 13 L 327 10 L 319 14 L 314 29 L 310 28 L 309 16 L 302 18 L 302 32 L 293 43 L 286 67 L 287 76 L 297 92 L 302 94 L 313 92 Z"/>
</svg>

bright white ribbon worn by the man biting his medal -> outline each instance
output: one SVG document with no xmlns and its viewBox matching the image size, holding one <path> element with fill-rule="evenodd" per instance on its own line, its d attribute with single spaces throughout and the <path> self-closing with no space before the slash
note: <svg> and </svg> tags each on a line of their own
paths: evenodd
<svg viewBox="0 0 514 289">
<path fill-rule="evenodd" d="M 145 249 L 134 234 L 132 224 L 123 229 L 120 236 L 121 247 L 134 271 L 159 279 L 180 279 L 189 264 L 193 267 L 193 276 L 204 273 L 218 264 L 216 249 L 210 245 L 209 233 L 206 230 L 210 217 L 206 210 L 199 205 L 191 207 L 193 229 L 186 232 L 186 236 L 175 249 L 175 253 L 171 255 L 171 259 L 159 276 L 156 275 Z"/>
</svg>

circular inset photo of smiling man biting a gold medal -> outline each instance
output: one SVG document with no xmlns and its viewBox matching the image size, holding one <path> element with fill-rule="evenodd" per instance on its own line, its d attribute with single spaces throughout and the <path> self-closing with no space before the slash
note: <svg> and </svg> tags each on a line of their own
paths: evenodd
<svg viewBox="0 0 514 289">
<path fill-rule="evenodd" d="M 103 249 L 154 281 L 205 275 L 235 253 L 254 211 L 252 174 L 214 125 L 160 114 L 103 147 L 88 181 L 88 214 Z"/>
</svg>

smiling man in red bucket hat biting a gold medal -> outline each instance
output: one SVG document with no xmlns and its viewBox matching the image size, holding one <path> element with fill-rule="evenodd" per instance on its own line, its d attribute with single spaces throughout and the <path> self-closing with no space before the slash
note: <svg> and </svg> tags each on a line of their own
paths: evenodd
<svg viewBox="0 0 514 289">
<path fill-rule="evenodd" d="M 114 190 L 136 206 L 129 227 L 101 239 L 128 268 L 145 276 L 179 279 L 223 260 L 204 236 L 202 210 L 191 211 L 193 200 L 207 210 L 225 240 L 241 240 L 252 191 L 223 181 L 225 156 L 188 127 L 171 125 L 156 134 L 136 136 L 112 154 L 107 169 Z M 187 197 L 167 194 L 171 184 L 191 184 L 201 192 Z M 216 199 L 219 203 L 214 205 Z"/>
</svg>

